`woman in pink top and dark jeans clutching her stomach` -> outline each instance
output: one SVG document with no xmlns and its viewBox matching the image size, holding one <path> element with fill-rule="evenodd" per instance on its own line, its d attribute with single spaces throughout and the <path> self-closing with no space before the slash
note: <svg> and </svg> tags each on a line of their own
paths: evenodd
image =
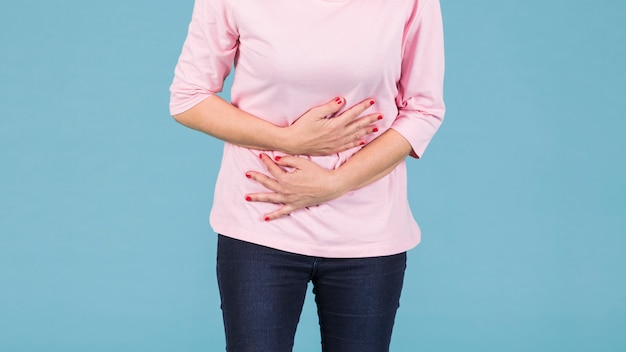
<svg viewBox="0 0 626 352">
<path fill-rule="evenodd" d="M 290 351 L 309 281 L 323 351 L 389 349 L 420 240 L 405 158 L 441 124 L 443 67 L 438 0 L 196 0 L 170 110 L 226 142 L 228 351 Z"/>
</svg>

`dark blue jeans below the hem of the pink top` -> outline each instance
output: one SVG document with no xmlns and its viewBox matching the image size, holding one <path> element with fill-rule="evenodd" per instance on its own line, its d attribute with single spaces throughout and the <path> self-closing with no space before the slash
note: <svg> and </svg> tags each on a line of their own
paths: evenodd
<svg viewBox="0 0 626 352">
<path fill-rule="evenodd" d="M 316 258 L 222 235 L 217 248 L 227 351 L 291 351 L 309 281 L 323 352 L 389 351 L 406 253 Z"/>
</svg>

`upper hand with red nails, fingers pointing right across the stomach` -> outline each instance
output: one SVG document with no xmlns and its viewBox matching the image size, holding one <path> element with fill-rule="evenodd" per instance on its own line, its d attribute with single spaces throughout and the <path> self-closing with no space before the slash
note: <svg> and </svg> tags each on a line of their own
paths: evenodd
<svg viewBox="0 0 626 352">
<path fill-rule="evenodd" d="M 383 118 L 375 113 L 359 117 L 374 105 L 373 99 L 366 99 L 340 115 L 337 113 L 346 103 L 338 97 L 324 105 L 316 106 L 285 127 L 287 148 L 291 155 L 331 155 L 364 145 L 363 137 L 378 132 L 374 122 Z"/>
</svg>

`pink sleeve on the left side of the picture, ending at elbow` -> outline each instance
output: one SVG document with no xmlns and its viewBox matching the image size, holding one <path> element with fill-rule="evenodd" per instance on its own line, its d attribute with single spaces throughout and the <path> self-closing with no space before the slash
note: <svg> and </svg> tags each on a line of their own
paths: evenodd
<svg viewBox="0 0 626 352">
<path fill-rule="evenodd" d="M 237 52 L 238 31 L 228 0 L 196 0 L 187 39 L 170 86 L 170 113 L 221 92 Z"/>
</svg>

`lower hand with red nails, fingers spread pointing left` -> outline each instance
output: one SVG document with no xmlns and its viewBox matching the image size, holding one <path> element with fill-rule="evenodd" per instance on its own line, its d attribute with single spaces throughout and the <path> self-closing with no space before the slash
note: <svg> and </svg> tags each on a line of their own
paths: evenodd
<svg viewBox="0 0 626 352">
<path fill-rule="evenodd" d="M 297 209 L 319 205 L 346 192 L 334 177 L 333 170 L 326 170 L 308 159 L 283 156 L 276 157 L 274 161 L 265 153 L 260 158 L 271 177 L 257 171 L 246 172 L 246 177 L 271 192 L 251 193 L 246 195 L 246 200 L 282 205 L 266 214 L 265 221 L 288 215 Z"/>
</svg>

